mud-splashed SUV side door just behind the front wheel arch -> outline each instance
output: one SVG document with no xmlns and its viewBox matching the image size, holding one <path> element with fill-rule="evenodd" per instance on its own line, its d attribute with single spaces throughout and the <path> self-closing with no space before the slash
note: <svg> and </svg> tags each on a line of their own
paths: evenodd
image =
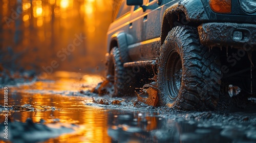
<svg viewBox="0 0 256 143">
<path fill-rule="evenodd" d="M 142 8 L 132 12 L 132 27 L 129 29 L 135 38 L 129 45 L 129 55 L 133 61 L 152 60 L 159 56 L 161 33 L 161 10 L 157 0 L 144 1 L 146 11 Z"/>
</svg>

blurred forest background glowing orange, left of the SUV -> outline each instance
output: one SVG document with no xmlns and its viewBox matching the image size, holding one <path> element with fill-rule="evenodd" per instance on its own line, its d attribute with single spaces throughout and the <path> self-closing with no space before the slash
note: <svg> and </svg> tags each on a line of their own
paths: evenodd
<svg viewBox="0 0 256 143">
<path fill-rule="evenodd" d="M 40 73 L 42 66 L 55 60 L 59 66 L 53 71 L 103 73 L 113 4 L 103 0 L 1 0 L 0 67 Z M 61 61 L 58 51 L 80 33 L 86 40 Z"/>
</svg>

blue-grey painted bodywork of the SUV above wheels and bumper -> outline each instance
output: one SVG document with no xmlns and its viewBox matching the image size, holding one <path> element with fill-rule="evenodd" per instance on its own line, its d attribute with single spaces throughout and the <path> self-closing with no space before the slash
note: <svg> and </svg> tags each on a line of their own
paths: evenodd
<svg viewBox="0 0 256 143">
<path fill-rule="evenodd" d="M 163 0 L 160 5 L 157 2 L 157 0 L 150 2 L 144 0 L 145 11 L 141 7 L 132 6 L 129 14 L 110 25 L 108 52 L 112 49 L 111 41 L 115 40 L 120 52 L 127 52 L 130 61 L 153 60 L 159 57 L 160 47 L 173 27 L 187 25 L 188 22 L 193 22 L 197 26 L 208 22 L 256 23 L 256 12 L 245 13 L 240 8 L 238 0 L 232 0 L 232 12 L 229 14 L 213 12 L 209 8 L 209 0 Z M 179 13 L 184 14 L 187 22 L 179 19 L 181 18 Z M 175 18 L 180 21 L 175 21 L 177 20 Z M 241 25 L 240 28 L 242 28 Z M 119 34 L 122 34 L 119 36 L 122 38 L 117 38 Z M 225 45 L 223 41 L 215 40 L 215 42 L 216 45 Z"/>
</svg>

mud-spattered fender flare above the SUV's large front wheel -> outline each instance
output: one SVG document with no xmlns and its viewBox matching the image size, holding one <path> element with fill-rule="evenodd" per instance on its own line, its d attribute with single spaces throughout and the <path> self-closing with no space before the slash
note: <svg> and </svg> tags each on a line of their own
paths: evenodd
<svg viewBox="0 0 256 143">
<path fill-rule="evenodd" d="M 209 21 L 201 0 L 182 0 L 175 3 L 164 11 L 161 29 L 161 45 L 168 35 L 168 32 L 177 26 L 174 22 L 178 20 L 176 18 L 178 18 L 180 13 L 184 13 L 186 20 L 189 22 L 202 23 Z"/>
</svg>

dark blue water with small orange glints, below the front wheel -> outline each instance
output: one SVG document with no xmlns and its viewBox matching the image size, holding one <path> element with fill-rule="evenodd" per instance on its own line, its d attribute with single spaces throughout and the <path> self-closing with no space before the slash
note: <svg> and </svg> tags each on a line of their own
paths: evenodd
<svg viewBox="0 0 256 143">
<path fill-rule="evenodd" d="M 200 128 L 154 114 L 109 114 L 112 142 L 229 142 L 220 129 Z M 151 121 L 154 122 L 151 122 Z M 150 128 L 150 129 L 148 129 Z"/>
</svg>

